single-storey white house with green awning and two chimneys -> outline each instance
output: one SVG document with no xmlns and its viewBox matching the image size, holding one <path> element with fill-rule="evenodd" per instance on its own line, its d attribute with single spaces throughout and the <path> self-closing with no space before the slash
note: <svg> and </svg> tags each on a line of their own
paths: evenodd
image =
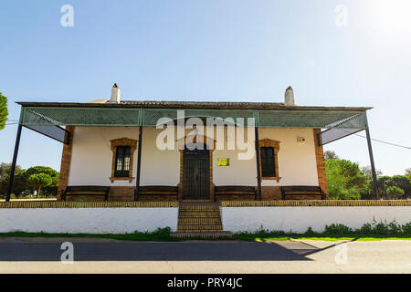
<svg viewBox="0 0 411 292">
<path fill-rule="evenodd" d="M 291 88 L 285 102 L 125 101 L 116 84 L 111 99 L 19 104 L 20 128 L 64 143 L 70 201 L 325 199 L 322 145 L 368 130 L 371 109 L 297 106 Z"/>
</svg>

